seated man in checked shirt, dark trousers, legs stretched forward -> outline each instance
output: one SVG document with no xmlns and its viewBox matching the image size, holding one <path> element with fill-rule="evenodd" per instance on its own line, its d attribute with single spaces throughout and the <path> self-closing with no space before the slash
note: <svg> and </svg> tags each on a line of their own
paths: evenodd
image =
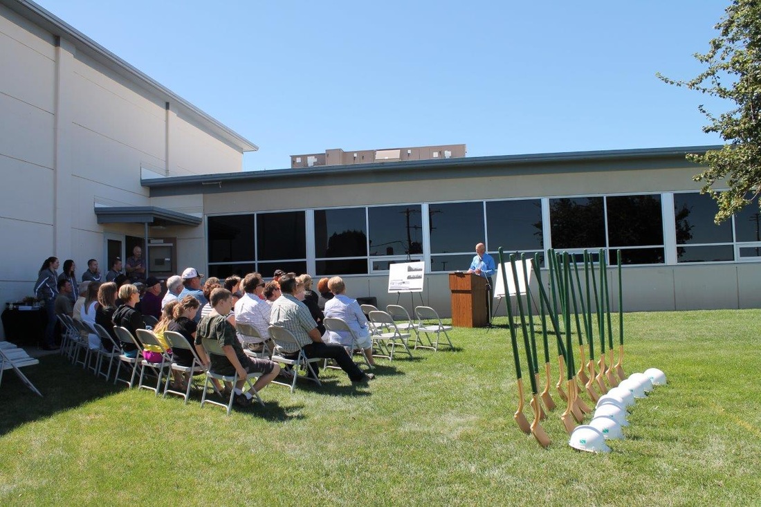
<svg viewBox="0 0 761 507">
<path fill-rule="evenodd" d="M 296 274 L 285 274 L 279 282 L 282 296 L 272 303 L 269 324 L 285 327 L 291 331 L 308 358 L 334 359 L 349 375 L 352 382 L 366 382 L 375 378 L 375 375 L 361 371 L 342 346 L 335 343 L 323 343 L 320 331 L 317 330 L 317 323 L 309 313 L 309 309 L 295 297 Z M 316 365 L 313 363 L 314 366 Z"/>
</svg>

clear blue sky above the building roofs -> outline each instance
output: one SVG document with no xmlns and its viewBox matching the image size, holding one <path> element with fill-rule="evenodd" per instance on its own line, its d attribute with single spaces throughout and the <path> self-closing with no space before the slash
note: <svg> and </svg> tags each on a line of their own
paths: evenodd
<svg viewBox="0 0 761 507">
<path fill-rule="evenodd" d="M 718 144 L 692 78 L 727 2 L 37 0 L 260 147 L 468 156 Z"/>
</svg>

